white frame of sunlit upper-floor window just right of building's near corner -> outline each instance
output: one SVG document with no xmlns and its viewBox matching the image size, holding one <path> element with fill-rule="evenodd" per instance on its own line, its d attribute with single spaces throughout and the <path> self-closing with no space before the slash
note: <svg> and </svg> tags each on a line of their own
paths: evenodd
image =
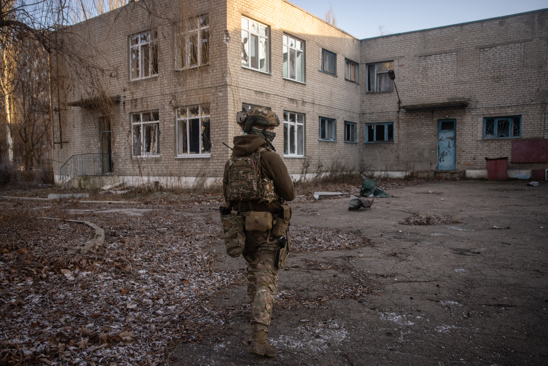
<svg viewBox="0 0 548 366">
<path fill-rule="evenodd" d="M 256 20 L 247 18 L 247 16 L 242 15 L 242 67 L 244 69 L 250 69 L 255 70 L 259 72 L 264 72 L 265 74 L 270 74 L 270 27 L 266 24 L 262 24 Z M 251 63 L 251 56 L 250 56 L 250 40 L 253 37 L 256 37 L 257 43 L 256 43 L 256 52 L 257 52 L 257 67 L 253 67 Z M 261 43 L 263 41 L 264 43 Z M 265 65 L 264 67 L 261 67 L 260 65 L 260 55 L 261 52 L 261 44 L 262 51 L 265 53 Z M 246 61 L 245 58 L 248 58 Z"/>
</svg>

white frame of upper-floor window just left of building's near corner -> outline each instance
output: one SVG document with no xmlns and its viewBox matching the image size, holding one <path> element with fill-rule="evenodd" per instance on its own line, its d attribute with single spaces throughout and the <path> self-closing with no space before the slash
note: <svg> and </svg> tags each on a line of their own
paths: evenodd
<svg viewBox="0 0 548 366">
<path fill-rule="evenodd" d="M 192 38 L 196 40 L 196 60 L 192 60 Z M 194 16 L 175 29 L 175 70 L 209 65 L 209 15 Z M 182 44 L 181 44 L 182 43 Z M 182 62 L 181 62 L 182 61 Z M 196 61 L 192 64 L 192 61 Z"/>
</svg>

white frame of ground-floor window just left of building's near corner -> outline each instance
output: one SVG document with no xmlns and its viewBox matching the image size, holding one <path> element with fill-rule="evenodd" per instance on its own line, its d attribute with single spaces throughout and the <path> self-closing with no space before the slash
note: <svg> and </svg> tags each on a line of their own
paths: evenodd
<svg viewBox="0 0 548 366">
<path fill-rule="evenodd" d="M 195 110 L 197 108 L 198 114 L 191 115 L 191 109 Z M 184 113 L 183 113 L 184 112 Z M 199 124 L 199 138 L 198 138 L 198 153 L 192 153 L 190 151 L 190 134 L 191 131 L 191 120 L 198 119 Z M 209 123 L 209 151 L 203 151 L 203 133 L 204 122 L 208 120 Z M 185 128 L 181 128 L 182 125 L 185 125 Z M 193 158 L 193 157 L 210 157 L 211 156 L 211 112 L 209 110 L 208 104 L 201 105 L 190 105 L 185 107 L 175 108 L 175 138 L 176 138 L 176 158 Z M 184 149 L 184 142 L 181 141 L 181 138 L 186 138 L 186 149 Z M 186 151 L 184 151 L 186 150 Z M 182 152 L 181 152 L 182 151 Z"/>
</svg>

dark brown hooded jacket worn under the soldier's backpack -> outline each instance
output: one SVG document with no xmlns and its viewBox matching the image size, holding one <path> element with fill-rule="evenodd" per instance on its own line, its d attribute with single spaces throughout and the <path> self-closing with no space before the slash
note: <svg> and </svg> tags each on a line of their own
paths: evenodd
<svg viewBox="0 0 548 366">
<path fill-rule="evenodd" d="M 232 153 L 234 155 L 243 156 L 252 154 L 253 151 L 260 146 L 266 147 L 266 140 L 256 135 L 244 135 L 234 137 L 234 147 Z M 228 180 L 229 175 L 229 161 L 225 164 L 224 181 Z M 293 181 L 287 172 L 287 167 L 283 164 L 282 158 L 274 151 L 265 151 L 261 154 L 261 176 L 263 178 L 272 179 L 274 187 L 278 191 L 278 194 L 286 201 L 293 201 L 295 199 L 295 187 Z M 226 187 L 223 188 L 226 201 Z M 235 201 L 232 204 L 234 210 L 238 209 L 239 201 Z M 273 200 L 270 204 L 265 202 L 259 203 L 259 201 L 253 201 L 253 211 L 269 211 L 276 213 L 280 202 Z M 250 211 L 250 207 L 247 201 L 242 201 L 241 211 Z"/>
</svg>

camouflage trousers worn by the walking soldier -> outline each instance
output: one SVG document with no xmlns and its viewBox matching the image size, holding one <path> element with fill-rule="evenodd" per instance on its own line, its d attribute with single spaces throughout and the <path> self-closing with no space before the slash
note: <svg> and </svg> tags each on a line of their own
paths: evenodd
<svg viewBox="0 0 548 366">
<path fill-rule="evenodd" d="M 278 249 L 277 243 L 267 243 L 268 235 L 267 231 L 246 230 L 246 247 L 242 254 L 248 263 L 247 296 L 251 304 L 250 323 L 253 330 L 268 330 L 278 289 L 278 269 L 274 266 L 274 258 L 259 262 L 259 256 Z"/>
</svg>

